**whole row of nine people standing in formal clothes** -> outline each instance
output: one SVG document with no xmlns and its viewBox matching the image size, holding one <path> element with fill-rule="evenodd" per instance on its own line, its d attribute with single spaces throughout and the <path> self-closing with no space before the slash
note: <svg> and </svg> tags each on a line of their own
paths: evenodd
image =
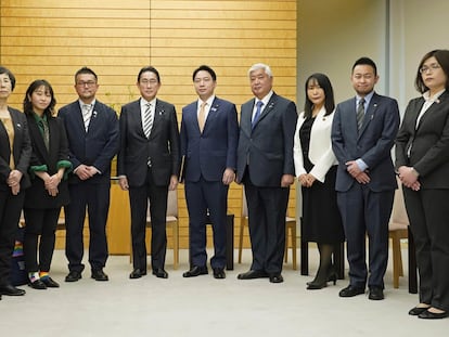
<svg viewBox="0 0 449 337">
<path fill-rule="evenodd" d="M 62 206 L 69 269 L 65 281 L 78 281 L 85 268 L 86 208 L 91 276 L 108 280 L 103 271 L 107 259 L 105 225 L 111 160 L 118 153 L 119 185 L 128 191 L 131 208 L 130 278 L 147 272 L 149 207 L 152 273 L 168 277 L 167 195 L 178 183 L 185 186 L 190 230 L 190 269 L 183 276 L 208 273 L 206 221 L 210 220 L 213 275 L 226 278 L 228 190 L 235 181 L 244 185 L 253 252 L 249 271 L 238 278 L 267 277 L 271 283 L 282 283 L 285 215 L 290 186 L 297 179 L 303 195 L 304 241 L 316 242 L 320 252 L 318 272 L 307 288 L 320 289 L 343 276 L 333 260 L 336 248 L 346 239 L 349 285 L 339 296 L 364 294 L 368 286 L 369 299 L 382 300 L 388 222 L 399 179 L 420 272 L 420 303 L 409 314 L 446 317 L 448 77 L 449 51 L 424 55 L 415 80 L 422 96 L 409 103 L 399 128 L 397 102 L 374 91 L 379 75 L 371 59 L 355 62 L 350 79 L 356 96 L 337 105 L 328 76 L 309 76 L 299 116 L 293 101 L 273 91 L 270 67 L 255 64 L 248 70 L 254 98 L 242 105 L 239 126 L 235 105 L 215 95 L 216 73 L 202 65 L 192 75 L 197 100 L 182 108 L 179 131 L 175 106 L 157 99 L 161 76 L 152 66 L 140 70 L 137 87 L 141 98 L 121 107 L 119 120 L 112 108 L 95 99 L 98 78 L 90 68 L 75 75 L 79 99 L 54 117 L 53 90 L 44 80 L 29 86 L 25 115 L 9 107 L 15 79 L 0 67 L 0 291 L 25 294 L 9 281 L 13 236 L 22 209 L 31 287 L 59 286 L 49 271 Z M 395 143 L 396 165 L 390 153 Z"/>
</svg>

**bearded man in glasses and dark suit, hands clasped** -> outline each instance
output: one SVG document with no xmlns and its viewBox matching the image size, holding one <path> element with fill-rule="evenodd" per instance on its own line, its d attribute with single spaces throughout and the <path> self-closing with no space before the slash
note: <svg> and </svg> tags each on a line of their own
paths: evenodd
<svg viewBox="0 0 449 337">
<path fill-rule="evenodd" d="M 75 75 L 79 99 L 63 106 L 59 116 L 67 131 L 69 160 L 74 172 L 68 180 L 70 204 L 65 207 L 66 246 L 69 273 L 66 282 L 81 278 L 85 265 L 82 228 L 89 215 L 89 263 L 91 276 L 107 281 L 106 220 L 110 208 L 111 160 L 118 151 L 117 114 L 95 99 L 98 78 L 84 67 Z"/>
</svg>

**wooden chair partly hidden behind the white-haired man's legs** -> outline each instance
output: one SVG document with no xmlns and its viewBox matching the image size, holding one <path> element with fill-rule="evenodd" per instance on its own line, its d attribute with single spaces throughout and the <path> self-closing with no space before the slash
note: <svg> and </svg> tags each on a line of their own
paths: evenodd
<svg viewBox="0 0 449 337">
<path fill-rule="evenodd" d="M 242 248 L 243 248 L 243 231 L 244 228 L 248 226 L 248 207 L 246 205 L 245 193 L 242 196 L 242 219 L 240 222 L 240 234 L 239 234 L 239 263 L 242 263 Z M 291 245 L 288 245 L 288 233 L 291 237 Z M 285 262 L 288 262 L 288 247 L 292 248 L 292 263 L 293 269 L 296 270 L 296 219 L 291 217 L 285 217 Z"/>
</svg>

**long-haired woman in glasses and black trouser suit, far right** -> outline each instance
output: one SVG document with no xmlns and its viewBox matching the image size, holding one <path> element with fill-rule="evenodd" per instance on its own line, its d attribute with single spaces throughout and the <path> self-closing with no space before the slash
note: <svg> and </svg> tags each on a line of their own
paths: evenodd
<svg viewBox="0 0 449 337">
<path fill-rule="evenodd" d="M 449 315 L 449 50 L 422 59 L 396 140 L 396 168 L 416 247 L 421 319 Z"/>
</svg>

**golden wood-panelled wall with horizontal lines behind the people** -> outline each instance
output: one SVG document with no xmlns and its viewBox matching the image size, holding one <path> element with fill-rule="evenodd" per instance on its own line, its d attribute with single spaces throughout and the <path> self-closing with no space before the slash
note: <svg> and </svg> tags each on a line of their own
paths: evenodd
<svg viewBox="0 0 449 337">
<path fill-rule="evenodd" d="M 274 90 L 296 101 L 296 0 L 1 0 L 0 64 L 17 79 L 10 99 L 21 108 L 30 81 L 48 79 L 57 107 L 77 99 L 74 74 L 91 67 L 98 99 L 117 113 L 139 98 L 136 77 L 155 66 L 158 96 L 177 106 L 196 99 L 192 72 L 211 66 L 217 95 L 240 105 L 252 98 L 247 69 L 272 67 Z M 295 192 L 290 213 L 294 215 Z M 241 187 L 229 193 L 229 212 L 240 225 Z M 188 247 L 188 212 L 180 186 L 180 244 Z M 238 231 L 236 231 L 238 234 Z M 247 245 L 247 238 L 245 238 Z"/>
</svg>

